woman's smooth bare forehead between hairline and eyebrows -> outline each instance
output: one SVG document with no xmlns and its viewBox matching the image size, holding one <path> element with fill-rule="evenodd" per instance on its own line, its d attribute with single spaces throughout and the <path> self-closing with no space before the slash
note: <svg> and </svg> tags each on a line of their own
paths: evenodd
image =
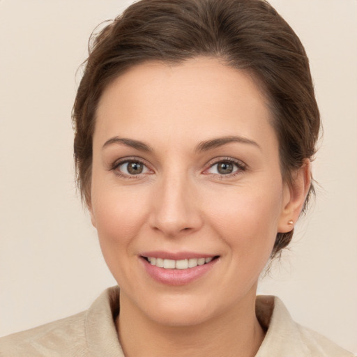
<svg viewBox="0 0 357 357">
<path fill-rule="evenodd" d="M 94 139 L 243 135 L 272 130 L 267 100 L 243 70 L 218 59 L 180 64 L 149 62 L 130 68 L 102 93 Z M 219 131 L 219 133 L 218 133 Z"/>
</svg>

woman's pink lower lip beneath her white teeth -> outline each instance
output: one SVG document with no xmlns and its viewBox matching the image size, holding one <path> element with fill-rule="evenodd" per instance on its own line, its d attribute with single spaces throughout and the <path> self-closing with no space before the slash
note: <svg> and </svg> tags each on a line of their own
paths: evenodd
<svg viewBox="0 0 357 357">
<path fill-rule="evenodd" d="M 161 284 L 176 286 L 190 284 L 190 282 L 194 282 L 195 280 L 201 278 L 203 275 L 208 273 L 208 271 L 210 271 L 218 261 L 218 259 L 213 259 L 209 263 L 195 266 L 195 268 L 165 269 L 151 265 L 149 261 L 144 258 L 141 258 L 141 260 L 144 263 L 146 273 L 148 273 L 153 280 L 156 280 Z"/>
</svg>

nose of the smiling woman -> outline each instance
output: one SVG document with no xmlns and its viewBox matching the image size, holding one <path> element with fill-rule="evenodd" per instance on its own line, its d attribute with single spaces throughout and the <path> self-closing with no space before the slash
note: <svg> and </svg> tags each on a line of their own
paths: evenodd
<svg viewBox="0 0 357 357">
<path fill-rule="evenodd" d="M 150 225 L 165 236 L 175 237 L 202 227 L 195 188 L 185 177 L 166 177 L 152 197 Z"/>
</svg>

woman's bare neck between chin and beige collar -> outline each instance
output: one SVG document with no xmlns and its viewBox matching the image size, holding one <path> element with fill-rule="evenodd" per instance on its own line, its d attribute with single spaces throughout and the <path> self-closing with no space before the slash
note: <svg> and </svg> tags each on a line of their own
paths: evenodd
<svg viewBox="0 0 357 357">
<path fill-rule="evenodd" d="M 253 357 L 264 339 L 255 316 L 255 296 L 195 326 L 162 326 L 149 319 L 121 294 L 116 321 L 126 357 Z"/>
</svg>

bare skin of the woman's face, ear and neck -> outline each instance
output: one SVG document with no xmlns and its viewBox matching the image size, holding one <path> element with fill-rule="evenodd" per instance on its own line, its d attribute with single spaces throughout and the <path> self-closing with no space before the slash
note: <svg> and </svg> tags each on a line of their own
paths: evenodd
<svg viewBox="0 0 357 357">
<path fill-rule="evenodd" d="M 89 211 L 121 288 L 116 324 L 126 356 L 255 356 L 264 339 L 259 274 L 310 187 L 308 162 L 292 185 L 282 181 L 271 121 L 255 82 L 218 59 L 144 63 L 102 94 Z M 232 136 L 240 139 L 202 149 Z M 238 165 L 219 174 L 227 159 Z M 132 175 L 120 160 L 145 166 Z M 172 286 L 143 268 L 141 253 L 153 250 L 219 258 L 199 279 Z"/>
</svg>

